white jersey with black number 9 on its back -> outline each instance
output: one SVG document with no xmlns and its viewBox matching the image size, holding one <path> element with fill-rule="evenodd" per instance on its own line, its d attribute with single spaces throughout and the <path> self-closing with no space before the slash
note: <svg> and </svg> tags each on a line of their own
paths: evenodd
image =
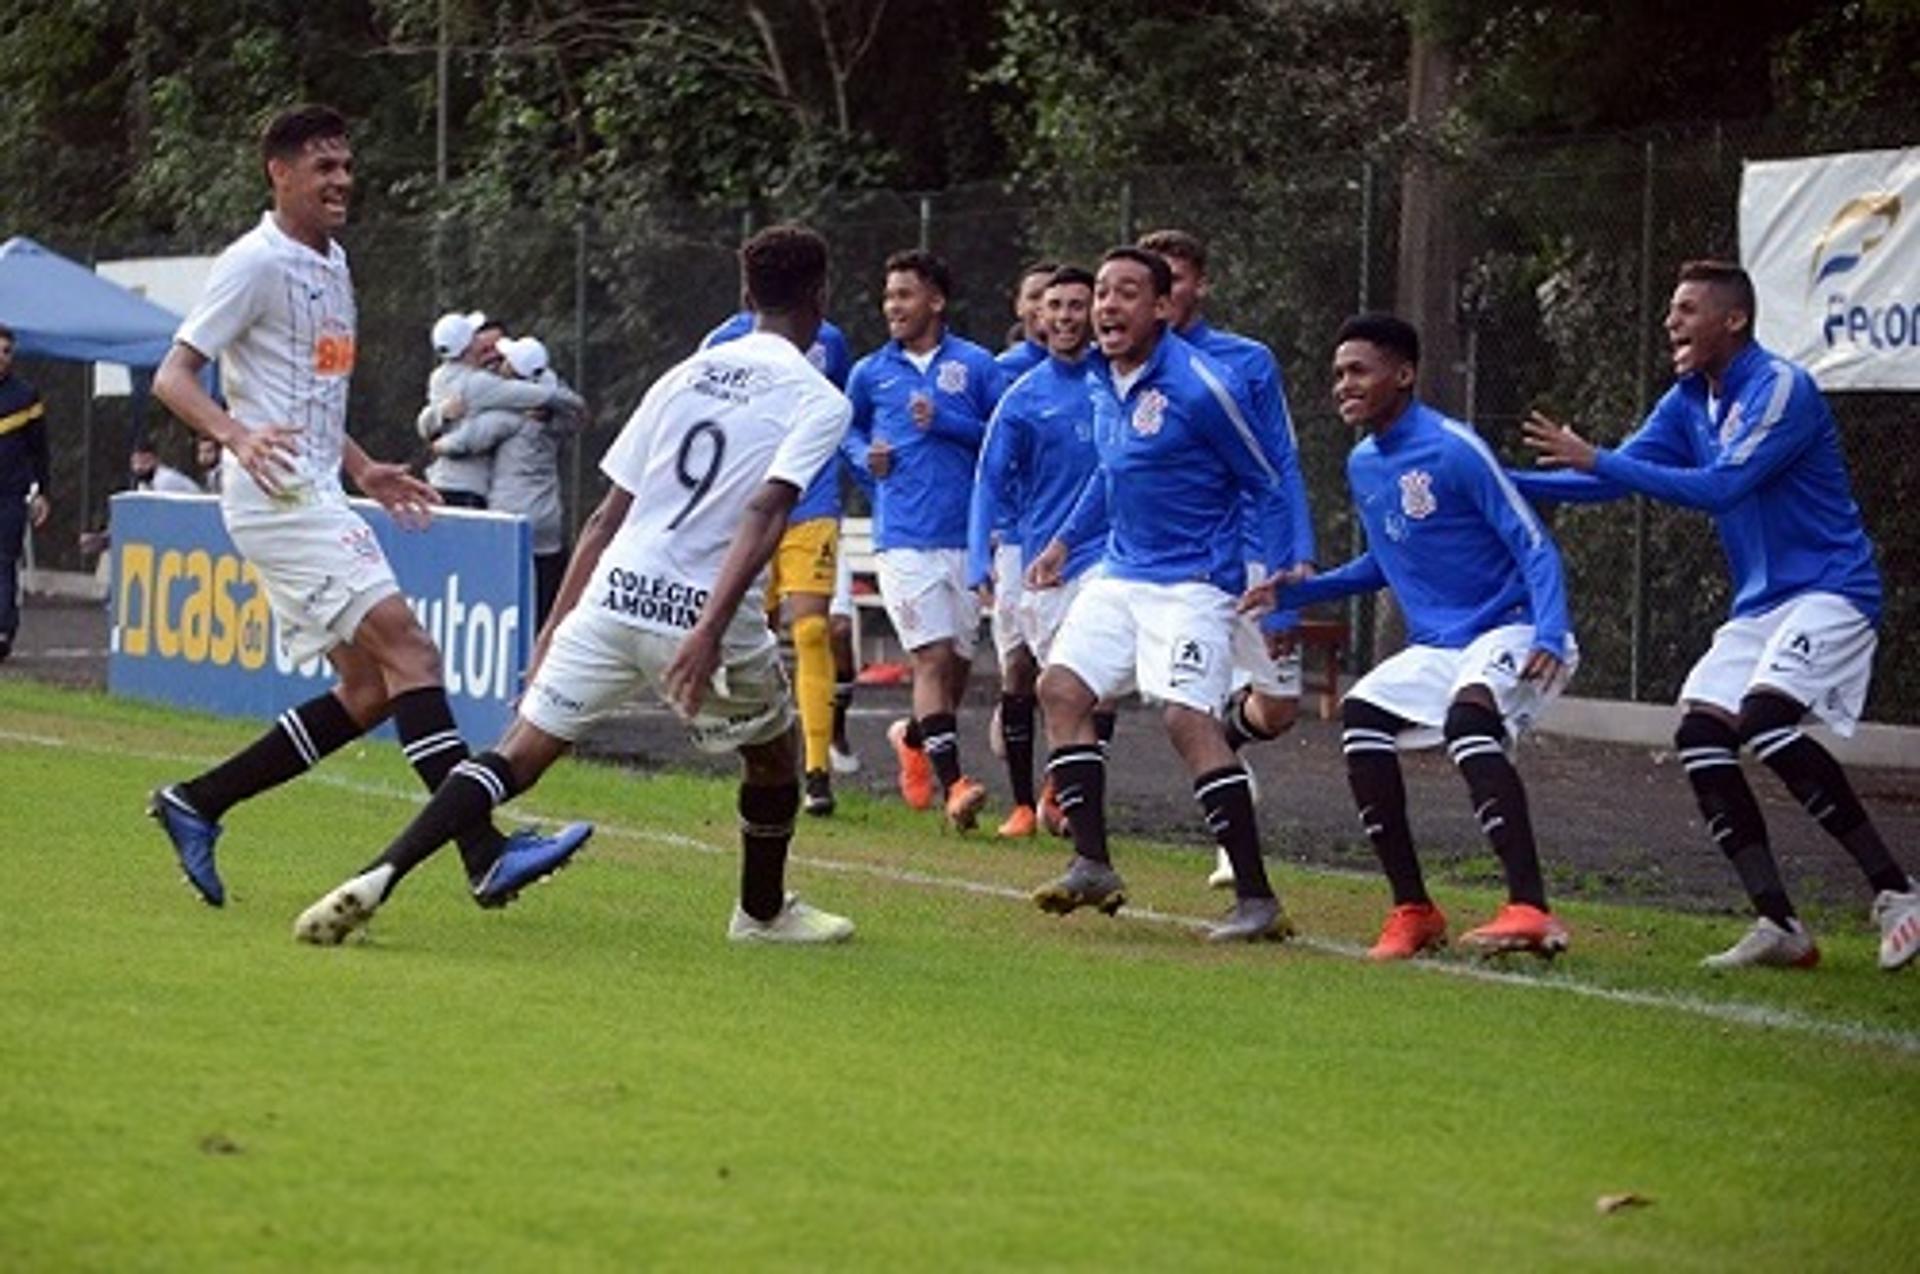
<svg viewBox="0 0 1920 1274">
<path fill-rule="evenodd" d="M 634 495 L 582 604 L 685 633 L 720 576 L 747 501 L 768 480 L 804 491 L 852 407 L 783 336 L 701 349 L 647 389 L 601 459 Z M 760 583 L 739 614 L 760 612 Z"/>
</svg>

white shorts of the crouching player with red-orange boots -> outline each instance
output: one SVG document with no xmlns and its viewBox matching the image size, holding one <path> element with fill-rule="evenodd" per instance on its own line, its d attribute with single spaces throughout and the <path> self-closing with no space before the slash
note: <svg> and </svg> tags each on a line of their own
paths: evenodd
<svg viewBox="0 0 1920 1274">
<path fill-rule="evenodd" d="M 1375 708 L 1402 716 L 1417 729 L 1400 735 L 1402 748 L 1434 748 L 1444 743 L 1448 708 L 1469 685 L 1484 685 L 1494 693 L 1494 706 L 1507 723 L 1507 739 L 1519 739 L 1542 708 L 1559 698 L 1580 666 L 1580 647 L 1567 635 L 1567 662 L 1549 683 L 1521 681 L 1521 670 L 1534 650 L 1532 624 L 1507 624 L 1475 637 L 1465 647 L 1407 647 L 1382 660 L 1354 683 L 1348 698 L 1361 698 Z"/>
</svg>

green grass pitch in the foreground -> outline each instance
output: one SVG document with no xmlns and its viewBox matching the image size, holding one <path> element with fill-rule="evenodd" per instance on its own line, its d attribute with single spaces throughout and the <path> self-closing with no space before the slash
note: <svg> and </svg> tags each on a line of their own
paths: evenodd
<svg viewBox="0 0 1920 1274">
<path fill-rule="evenodd" d="M 1281 871 L 1306 942 L 1212 950 L 1190 848 L 1062 921 L 1056 844 L 854 796 L 791 873 L 854 942 L 733 948 L 730 785 L 563 764 L 572 871 L 482 913 L 447 856 L 313 950 L 419 792 L 371 743 L 236 810 L 207 909 L 142 800 L 255 731 L 0 685 L 0 1268 L 1914 1262 L 1920 980 L 1864 915 L 1716 977 L 1736 921 L 1571 906 L 1500 980 L 1369 967 L 1380 886 Z"/>
</svg>

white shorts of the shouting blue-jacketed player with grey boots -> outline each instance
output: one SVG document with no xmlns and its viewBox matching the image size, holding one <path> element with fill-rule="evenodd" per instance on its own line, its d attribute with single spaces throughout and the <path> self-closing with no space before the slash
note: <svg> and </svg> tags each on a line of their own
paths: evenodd
<svg viewBox="0 0 1920 1274">
<path fill-rule="evenodd" d="M 1139 691 L 1217 718 L 1233 683 L 1233 606 L 1202 579 L 1094 576 L 1068 608 L 1048 664 L 1071 670 L 1094 698 Z"/>
</svg>

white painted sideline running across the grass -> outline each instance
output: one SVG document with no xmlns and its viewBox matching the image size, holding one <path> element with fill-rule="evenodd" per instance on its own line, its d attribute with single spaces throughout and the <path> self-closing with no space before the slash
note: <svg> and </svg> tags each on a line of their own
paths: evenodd
<svg viewBox="0 0 1920 1274">
<path fill-rule="evenodd" d="M 27 735 L 21 731 L 0 729 L 0 743 L 27 743 L 44 748 L 75 748 L 67 739 L 48 739 L 44 735 Z M 86 744 L 77 746 L 81 752 L 98 752 L 102 756 L 132 756 L 138 760 L 152 762 L 182 762 L 192 760 L 177 752 L 132 752 L 125 748 L 92 748 Z M 217 758 L 202 758 L 217 760 Z M 359 796 L 386 796 L 392 800 L 401 800 L 413 806 L 424 806 L 426 794 L 420 790 L 403 790 L 396 787 L 386 787 L 378 783 L 361 783 L 357 779 L 344 779 L 330 773 L 307 773 L 301 775 L 307 783 L 323 783 L 326 787 L 353 792 Z M 538 810 L 522 806 L 522 810 L 534 817 L 557 819 L 559 815 L 541 814 Z M 597 835 L 626 837 L 630 840 L 651 840 L 655 844 L 672 846 L 678 850 L 693 850 L 697 854 L 708 854 L 714 858 L 732 856 L 733 846 L 718 846 L 697 837 L 687 837 L 674 831 L 657 831 L 651 827 L 624 827 L 616 823 L 595 823 Z M 1000 898 L 1010 902 L 1027 902 L 1029 894 L 1023 888 L 1014 888 L 1010 885 L 995 885 L 991 881 L 970 881 L 966 877 L 947 877 L 933 875 L 929 871 L 912 871 L 906 867 L 887 867 L 883 863 L 854 863 L 837 858 L 816 858 L 812 854 L 795 854 L 791 861 L 804 867 L 814 867 L 816 871 L 833 871 L 839 875 L 864 875 L 877 881 L 891 881 L 897 885 L 916 885 L 925 888 L 943 888 L 956 894 L 970 894 L 973 898 Z M 1311 867 L 1300 867 L 1300 871 L 1309 871 L 1319 875 Z M 1127 904 L 1125 913 L 1116 917 L 1121 921 L 1144 921 L 1148 925 L 1173 925 L 1177 929 L 1204 931 L 1210 921 L 1198 915 L 1179 915 L 1173 911 L 1156 911 L 1154 908 L 1135 908 Z M 1311 938 L 1294 936 L 1288 938 L 1288 946 L 1302 946 L 1323 956 L 1340 956 L 1344 959 L 1363 959 L 1365 948 L 1356 942 L 1338 942 L 1334 938 Z M 1644 1009 L 1665 1009 L 1674 1013 L 1690 1013 L 1693 1017 L 1705 1017 L 1716 1023 L 1730 1023 L 1736 1026 L 1759 1026 L 1764 1030 L 1793 1030 L 1809 1036 L 1824 1036 L 1832 1040 L 1845 1040 L 1847 1044 L 1878 1044 L 1882 1048 L 1893 1048 L 1903 1053 L 1920 1053 L 1920 1032 L 1895 1030 L 1891 1026 L 1864 1026 L 1860 1023 L 1843 1023 L 1822 1017 L 1807 1017 L 1793 1009 L 1778 1009 L 1759 1003 L 1741 1003 L 1738 1000 L 1701 1000 L 1697 996 L 1676 996 L 1668 992 L 1655 990 L 1626 990 L 1619 986 L 1599 986 L 1596 982 L 1578 982 L 1574 979 L 1542 979 L 1526 973 L 1513 973 L 1509 969 L 1488 969 L 1484 965 L 1467 965 L 1438 959 L 1411 959 L 1409 967 L 1421 973 L 1432 973 L 1438 977 L 1465 979 L 1469 982 L 1492 982 L 1498 986 L 1524 986 L 1528 990 L 1557 990 L 1571 996 L 1582 996 L 1586 1000 L 1601 1000 L 1607 1003 L 1624 1003 Z"/>
</svg>

